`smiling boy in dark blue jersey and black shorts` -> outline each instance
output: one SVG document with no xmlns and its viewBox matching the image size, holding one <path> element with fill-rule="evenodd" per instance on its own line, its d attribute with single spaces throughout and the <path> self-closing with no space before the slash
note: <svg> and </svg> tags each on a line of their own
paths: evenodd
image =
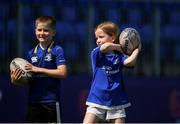
<svg viewBox="0 0 180 124">
<path fill-rule="evenodd" d="M 29 82 L 27 122 L 57 122 L 60 80 L 67 73 L 63 49 L 53 41 L 56 20 L 51 16 L 35 21 L 35 34 L 39 44 L 28 52 L 25 69 L 33 72 Z M 21 76 L 21 70 L 11 72 L 12 83 Z"/>
</svg>

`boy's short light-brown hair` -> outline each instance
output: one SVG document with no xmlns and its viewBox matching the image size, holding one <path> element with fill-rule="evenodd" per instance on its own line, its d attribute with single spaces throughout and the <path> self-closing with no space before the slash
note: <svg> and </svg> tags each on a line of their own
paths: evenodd
<svg viewBox="0 0 180 124">
<path fill-rule="evenodd" d="M 35 26 L 37 27 L 37 25 L 39 23 L 46 23 L 48 26 L 50 26 L 50 28 L 52 28 L 53 30 L 55 30 L 56 28 L 56 20 L 54 17 L 52 16 L 42 16 L 42 17 L 38 17 L 35 21 Z"/>
</svg>

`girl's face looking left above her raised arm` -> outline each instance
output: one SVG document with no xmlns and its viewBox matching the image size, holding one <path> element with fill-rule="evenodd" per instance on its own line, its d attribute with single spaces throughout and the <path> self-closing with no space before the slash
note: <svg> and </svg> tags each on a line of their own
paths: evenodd
<svg viewBox="0 0 180 124">
<path fill-rule="evenodd" d="M 102 29 L 98 28 L 95 31 L 95 36 L 96 36 L 96 44 L 98 46 L 101 46 L 102 44 L 106 43 L 106 42 L 114 42 L 115 37 L 114 36 L 109 36 L 108 34 L 106 34 Z"/>
</svg>

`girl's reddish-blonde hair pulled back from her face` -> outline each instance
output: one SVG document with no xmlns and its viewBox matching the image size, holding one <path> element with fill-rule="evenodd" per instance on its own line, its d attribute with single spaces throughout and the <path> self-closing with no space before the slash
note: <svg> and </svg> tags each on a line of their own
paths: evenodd
<svg viewBox="0 0 180 124">
<path fill-rule="evenodd" d="M 103 22 L 95 28 L 95 31 L 97 29 L 103 30 L 109 36 L 115 36 L 114 43 L 119 43 L 119 27 L 117 24 L 113 22 Z"/>
</svg>

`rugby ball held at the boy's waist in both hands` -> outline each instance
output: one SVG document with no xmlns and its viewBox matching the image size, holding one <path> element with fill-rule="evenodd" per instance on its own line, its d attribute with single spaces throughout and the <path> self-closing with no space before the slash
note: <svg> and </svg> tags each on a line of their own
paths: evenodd
<svg viewBox="0 0 180 124">
<path fill-rule="evenodd" d="M 16 81 L 16 84 L 27 85 L 28 81 L 32 78 L 32 73 L 25 70 L 25 65 L 29 62 L 23 58 L 14 58 L 10 63 L 10 71 L 14 71 L 16 68 L 22 70 L 21 78 Z"/>
</svg>

